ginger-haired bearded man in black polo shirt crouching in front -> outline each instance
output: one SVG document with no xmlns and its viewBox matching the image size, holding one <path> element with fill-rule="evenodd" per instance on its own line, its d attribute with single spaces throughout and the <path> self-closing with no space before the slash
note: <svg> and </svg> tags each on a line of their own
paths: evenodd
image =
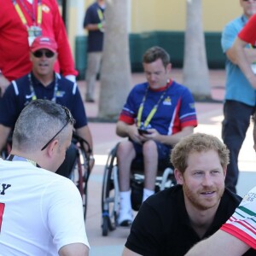
<svg viewBox="0 0 256 256">
<path fill-rule="evenodd" d="M 178 185 L 143 203 L 124 256 L 182 256 L 216 232 L 241 201 L 224 189 L 229 150 L 217 137 L 204 133 L 184 137 L 173 148 L 171 160 Z"/>
</svg>

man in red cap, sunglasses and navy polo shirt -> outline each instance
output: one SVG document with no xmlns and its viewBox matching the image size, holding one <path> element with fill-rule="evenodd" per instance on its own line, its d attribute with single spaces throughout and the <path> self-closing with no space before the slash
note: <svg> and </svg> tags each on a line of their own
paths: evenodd
<svg viewBox="0 0 256 256">
<path fill-rule="evenodd" d="M 5 146 L 10 131 L 14 129 L 15 121 L 21 110 L 36 99 L 48 99 L 69 108 L 76 120 L 74 128 L 77 134 L 92 148 L 92 138 L 79 88 L 76 83 L 54 72 L 54 64 L 58 55 L 57 48 L 54 38 L 36 38 L 30 48 L 32 72 L 12 81 L 1 98 L 0 151 Z M 49 138 L 53 136 L 54 134 L 49 130 Z M 47 145 L 46 142 L 45 147 Z M 73 144 L 68 148 L 66 156 L 56 173 L 69 177 L 76 156 Z"/>
</svg>

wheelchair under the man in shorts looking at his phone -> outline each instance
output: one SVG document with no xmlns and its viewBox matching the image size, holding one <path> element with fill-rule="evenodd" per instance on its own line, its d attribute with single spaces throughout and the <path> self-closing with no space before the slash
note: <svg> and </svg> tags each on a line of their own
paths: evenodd
<svg viewBox="0 0 256 256">
<path fill-rule="evenodd" d="M 117 165 L 117 148 L 119 143 L 108 154 L 104 168 L 102 183 L 102 236 L 108 236 L 108 231 L 118 227 L 119 213 L 119 170 Z M 143 162 L 131 164 L 131 207 L 138 211 L 143 201 Z M 155 179 L 155 193 L 176 184 L 173 167 L 170 160 L 159 161 Z"/>
</svg>

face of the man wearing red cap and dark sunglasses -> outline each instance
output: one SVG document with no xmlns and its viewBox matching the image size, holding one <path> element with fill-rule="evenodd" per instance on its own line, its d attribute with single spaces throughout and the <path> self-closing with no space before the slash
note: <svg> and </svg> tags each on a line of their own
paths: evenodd
<svg viewBox="0 0 256 256">
<path fill-rule="evenodd" d="M 55 53 L 54 55 L 47 57 L 47 53 L 50 52 L 49 49 L 38 49 L 36 52 L 42 52 L 43 55 L 38 57 L 31 52 L 30 59 L 32 61 L 33 73 L 41 78 L 52 76 L 57 54 Z"/>
</svg>

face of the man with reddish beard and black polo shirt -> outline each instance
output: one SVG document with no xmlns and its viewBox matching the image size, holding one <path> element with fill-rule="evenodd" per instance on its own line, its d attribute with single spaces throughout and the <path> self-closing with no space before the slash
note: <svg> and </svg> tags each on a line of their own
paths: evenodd
<svg viewBox="0 0 256 256">
<path fill-rule="evenodd" d="M 177 183 L 183 185 L 186 207 L 198 210 L 217 208 L 224 193 L 226 170 L 214 150 L 189 154 L 185 172 L 175 170 Z"/>
</svg>

